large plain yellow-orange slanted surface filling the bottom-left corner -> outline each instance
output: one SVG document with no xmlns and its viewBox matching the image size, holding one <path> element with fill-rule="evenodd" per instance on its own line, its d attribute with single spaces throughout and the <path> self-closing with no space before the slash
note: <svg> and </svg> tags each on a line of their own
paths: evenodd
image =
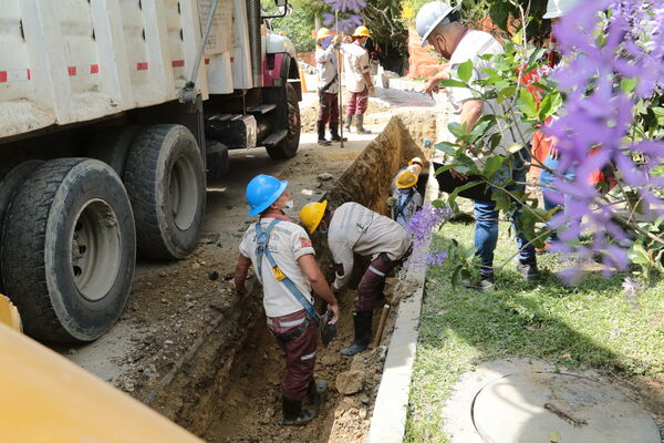
<svg viewBox="0 0 664 443">
<path fill-rule="evenodd" d="M 203 442 L 3 323 L 0 381 L 0 442 Z"/>
</svg>

